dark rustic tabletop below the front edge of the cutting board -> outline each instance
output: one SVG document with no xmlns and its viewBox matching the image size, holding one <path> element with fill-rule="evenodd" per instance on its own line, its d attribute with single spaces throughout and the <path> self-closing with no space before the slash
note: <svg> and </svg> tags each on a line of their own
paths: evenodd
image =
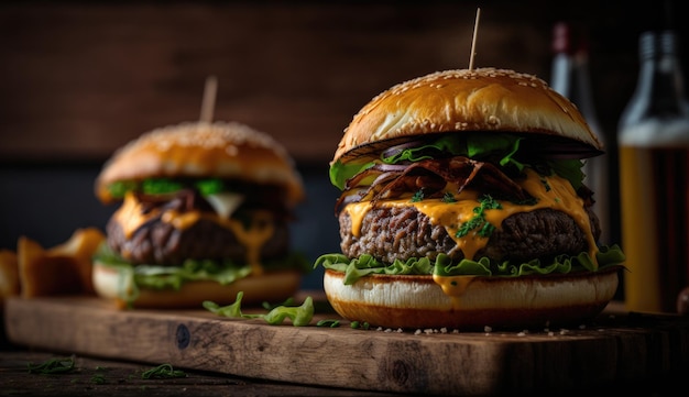
<svg viewBox="0 0 689 397">
<path fill-rule="evenodd" d="M 69 357 L 74 368 L 59 374 L 29 371 L 30 364 Z M 31 351 L 21 348 L 0 352 L 1 396 L 400 396 L 381 392 L 271 382 L 204 371 L 181 371 L 181 377 L 143 375 L 155 365 L 101 360 L 83 355 Z"/>
</svg>

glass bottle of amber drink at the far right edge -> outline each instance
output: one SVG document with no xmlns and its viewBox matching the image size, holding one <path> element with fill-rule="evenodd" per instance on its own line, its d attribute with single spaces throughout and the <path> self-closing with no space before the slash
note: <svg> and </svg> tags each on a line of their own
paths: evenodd
<svg viewBox="0 0 689 397">
<path fill-rule="evenodd" d="M 674 31 L 638 42 L 636 89 L 617 131 L 624 300 L 675 312 L 689 286 L 689 103 Z"/>
</svg>

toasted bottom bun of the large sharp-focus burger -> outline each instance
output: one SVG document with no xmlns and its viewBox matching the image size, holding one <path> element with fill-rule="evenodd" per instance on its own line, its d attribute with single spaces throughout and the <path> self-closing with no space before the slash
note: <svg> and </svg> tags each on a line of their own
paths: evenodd
<svg viewBox="0 0 689 397">
<path fill-rule="evenodd" d="M 522 277 L 473 277 L 446 295 L 431 276 L 370 275 L 344 285 L 326 269 L 332 308 L 350 321 L 385 328 L 491 328 L 572 324 L 599 315 L 615 295 L 617 269 Z"/>
</svg>

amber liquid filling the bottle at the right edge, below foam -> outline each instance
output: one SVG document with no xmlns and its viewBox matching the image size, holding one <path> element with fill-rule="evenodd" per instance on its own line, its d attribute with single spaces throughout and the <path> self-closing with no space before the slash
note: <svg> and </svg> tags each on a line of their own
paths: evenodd
<svg viewBox="0 0 689 397">
<path fill-rule="evenodd" d="M 689 285 L 688 158 L 688 147 L 620 147 L 630 310 L 672 312 Z"/>
</svg>

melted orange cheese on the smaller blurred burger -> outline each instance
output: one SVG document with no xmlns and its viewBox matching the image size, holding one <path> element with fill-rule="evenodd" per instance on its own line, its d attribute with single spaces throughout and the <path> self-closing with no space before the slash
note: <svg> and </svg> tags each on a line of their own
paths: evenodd
<svg viewBox="0 0 689 397">
<path fill-rule="evenodd" d="M 234 233 L 237 240 L 245 247 L 245 261 L 251 265 L 254 275 L 263 274 L 261 265 L 261 249 L 274 233 L 273 218 L 269 211 L 254 211 L 250 222 L 244 223 L 232 218 L 221 217 L 216 212 L 201 212 L 198 210 L 178 212 L 172 209 L 161 211 L 153 209 L 147 213 L 142 210 L 142 203 L 136 200 L 132 192 L 127 192 L 120 209 L 113 214 L 122 227 L 127 239 L 145 222 L 161 217 L 162 222 L 172 224 L 175 229 L 184 230 L 201 219 L 212 221 L 218 225 L 229 229 Z"/>
</svg>

